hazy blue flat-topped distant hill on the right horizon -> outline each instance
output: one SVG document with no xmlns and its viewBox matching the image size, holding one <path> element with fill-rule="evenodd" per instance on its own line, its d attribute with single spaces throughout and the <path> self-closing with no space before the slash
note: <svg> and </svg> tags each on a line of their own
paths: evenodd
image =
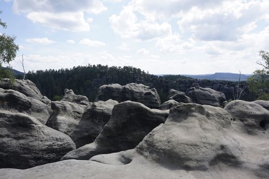
<svg viewBox="0 0 269 179">
<path fill-rule="evenodd" d="M 205 75 L 184 75 L 191 78 L 197 79 L 209 79 L 209 80 L 227 80 L 227 81 L 238 81 L 239 74 L 236 73 L 215 73 Z M 251 75 L 241 74 L 241 81 L 246 81 Z"/>
</svg>

